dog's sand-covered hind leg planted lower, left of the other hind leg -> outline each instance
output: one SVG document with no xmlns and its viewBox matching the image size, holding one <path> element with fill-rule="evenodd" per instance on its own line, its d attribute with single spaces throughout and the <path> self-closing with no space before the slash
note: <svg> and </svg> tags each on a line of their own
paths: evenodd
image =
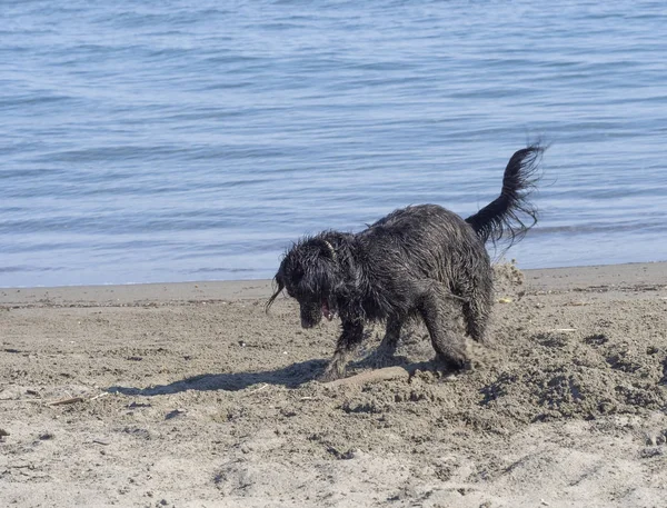
<svg viewBox="0 0 667 508">
<path fill-rule="evenodd" d="M 452 301 L 440 285 L 430 285 L 421 298 L 419 313 L 428 329 L 437 358 L 449 369 L 468 365 L 466 341 L 458 323 L 460 303 Z"/>
</svg>

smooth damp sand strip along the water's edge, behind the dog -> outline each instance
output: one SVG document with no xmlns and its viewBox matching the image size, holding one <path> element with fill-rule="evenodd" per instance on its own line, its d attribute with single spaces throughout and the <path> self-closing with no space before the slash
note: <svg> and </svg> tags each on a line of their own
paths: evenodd
<svg viewBox="0 0 667 508">
<path fill-rule="evenodd" d="M 500 263 L 501 265 L 501 263 Z M 607 286 L 667 285 L 667 261 L 520 269 L 526 281 L 551 290 Z M 131 305 L 268 298 L 270 279 L 150 282 L 101 286 L 0 288 L 0 306 Z"/>
</svg>

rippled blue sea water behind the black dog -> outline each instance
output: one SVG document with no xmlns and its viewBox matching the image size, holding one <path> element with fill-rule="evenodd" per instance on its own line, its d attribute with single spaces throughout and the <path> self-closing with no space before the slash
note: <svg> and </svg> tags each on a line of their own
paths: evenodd
<svg viewBox="0 0 667 508">
<path fill-rule="evenodd" d="M 269 278 L 550 147 L 520 268 L 667 260 L 660 1 L 2 0 L 0 287 Z M 497 252 L 495 256 L 500 256 Z"/>
</svg>

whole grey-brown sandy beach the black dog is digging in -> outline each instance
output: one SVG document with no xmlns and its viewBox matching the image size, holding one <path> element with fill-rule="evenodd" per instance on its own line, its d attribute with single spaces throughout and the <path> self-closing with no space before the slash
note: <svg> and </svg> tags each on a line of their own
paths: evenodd
<svg viewBox="0 0 667 508">
<path fill-rule="evenodd" d="M 667 506 L 667 265 L 500 267 L 472 371 L 336 388 L 269 293 L 0 290 L 0 506 Z"/>
</svg>

